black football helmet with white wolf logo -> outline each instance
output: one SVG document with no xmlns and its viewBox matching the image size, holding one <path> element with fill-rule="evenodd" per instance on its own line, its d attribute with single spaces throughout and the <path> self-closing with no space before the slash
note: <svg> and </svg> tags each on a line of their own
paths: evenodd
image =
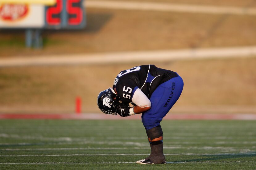
<svg viewBox="0 0 256 170">
<path fill-rule="evenodd" d="M 101 112 L 105 114 L 117 115 L 116 109 L 119 105 L 119 97 L 115 91 L 109 87 L 108 89 L 100 92 L 97 99 L 97 104 Z"/>
</svg>

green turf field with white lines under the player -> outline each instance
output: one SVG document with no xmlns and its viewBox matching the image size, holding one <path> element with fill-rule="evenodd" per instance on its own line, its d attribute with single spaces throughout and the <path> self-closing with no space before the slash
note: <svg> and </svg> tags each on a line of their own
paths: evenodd
<svg viewBox="0 0 256 170">
<path fill-rule="evenodd" d="M 140 121 L 0 120 L 0 169 L 256 169 L 256 121 L 163 120 L 167 164 Z"/>
</svg>

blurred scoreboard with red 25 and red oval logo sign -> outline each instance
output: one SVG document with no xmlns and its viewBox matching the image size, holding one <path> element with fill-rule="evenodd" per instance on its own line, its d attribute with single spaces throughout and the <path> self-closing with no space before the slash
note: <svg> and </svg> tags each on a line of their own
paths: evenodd
<svg viewBox="0 0 256 170">
<path fill-rule="evenodd" d="M 82 29 L 83 0 L 0 0 L 0 29 Z"/>
</svg>

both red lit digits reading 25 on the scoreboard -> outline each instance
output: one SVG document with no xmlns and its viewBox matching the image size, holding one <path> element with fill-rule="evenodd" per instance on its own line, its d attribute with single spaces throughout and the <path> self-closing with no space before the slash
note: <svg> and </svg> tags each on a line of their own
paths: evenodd
<svg viewBox="0 0 256 170">
<path fill-rule="evenodd" d="M 55 6 L 46 8 L 47 25 L 57 26 L 62 22 L 67 22 L 68 25 L 80 25 L 84 20 L 83 0 L 56 0 Z M 65 8 L 65 9 L 64 9 Z M 62 21 L 61 13 L 66 13 L 68 21 Z"/>
</svg>

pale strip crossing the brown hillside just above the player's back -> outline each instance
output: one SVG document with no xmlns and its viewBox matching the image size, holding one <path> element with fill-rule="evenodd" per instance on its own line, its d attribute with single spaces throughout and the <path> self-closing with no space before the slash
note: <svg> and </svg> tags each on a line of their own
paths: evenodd
<svg viewBox="0 0 256 170">
<path fill-rule="evenodd" d="M 256 46 L 208 48 L 208 49 L 177 49 L 155 51 L 131 51 L 95 54 L 63 54 L 36 57 L 4 57 L 0 58 L 0 67 L 29 65 L 99 65 L 120 64 L 141 61 L 173 61 L 209 58 L 251 57 L 256 56 Z M 86 116 L 86 115 L 85 115 Z M 92 115 L 90 115 L 92 116 Z M 96 117 L 97 114 L 94 115 Z M 249 115 L 250 116 L 250 115 Z M 98 117 L 96 117 L 98 118 Z"/>
</svg>

